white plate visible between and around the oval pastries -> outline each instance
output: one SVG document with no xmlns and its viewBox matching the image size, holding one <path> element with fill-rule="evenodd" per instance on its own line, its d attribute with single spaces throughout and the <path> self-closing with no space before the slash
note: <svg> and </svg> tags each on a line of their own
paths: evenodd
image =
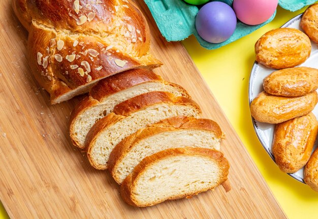
<svg viewBox="0 0 318 219">
<path fill-rule="evenodd" d="M 290 21 L 282 25 L 282 27 L 292 27 L 292 28 L 302 30 L 300 27 L 301 16 L 302 14 L 294 17 L 293 19 L 291 19 Z M 312 46 L 312 49 L 311 49 L 310 57 L 300 66 L 318 69 L 318 47 L 313 42 L 311 42 L 311 46 Z M 252 71 L 250 73 L 250 77 L 249 77 L 249 87 L 248 87 L 249 104 L 254 98 L 258 96 L 258 94 L 261 91 L 264 90 L 263 79 L 269 74 L 271 74 L 273 71 L 275 70 L 268 69 L 265 66 L 259 64 L 258 62 L 254 63 Z M 312 112 L 318 118 L 318 106 L 316 106 Z M 253 118 L 252 118 L 252 121 L 253 121 L 254 130 L 261 144 L 263 145 L 267 153 L 270 155 L 272 160 L 275 161 L 274 156 L 272 154 L 272 141 L 273 141 L 275 126 L 273 124 L 256 121 Z M 315 147 L 316 147 L 316 144 L 317 144 L 317 141 L 315 143 Z M 289 175 L 297 179 L 298 181 L 304 183 L 304 168 L 300 169 L 296 173 L 289 174 Z"/>
</svg>

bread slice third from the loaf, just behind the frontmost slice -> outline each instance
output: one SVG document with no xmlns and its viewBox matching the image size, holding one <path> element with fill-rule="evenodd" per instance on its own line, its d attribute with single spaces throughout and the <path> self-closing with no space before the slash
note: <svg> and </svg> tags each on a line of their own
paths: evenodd
<svg viewBox="0 0 318 219">
<path fill-rule="evenodd" d="M 109 171 L 121 184 L 142 159 L 169 148 L 220 149 L 222 132 L 210 119 L 178 116 L 168 118 L 123 139 L 109 156 Z"/>
</svg>

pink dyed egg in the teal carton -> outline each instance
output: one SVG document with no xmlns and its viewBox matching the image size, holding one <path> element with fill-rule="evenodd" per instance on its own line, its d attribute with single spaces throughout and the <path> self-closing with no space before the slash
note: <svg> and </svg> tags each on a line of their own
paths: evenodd
<svg viewBox="0 0 318 219">
<path fill-rule="evenodd" d="M 278 0 L 234 0 L 236 17 L 243 23 L 257 25 L 267 21 L 275 12 Z"/>
</svg>

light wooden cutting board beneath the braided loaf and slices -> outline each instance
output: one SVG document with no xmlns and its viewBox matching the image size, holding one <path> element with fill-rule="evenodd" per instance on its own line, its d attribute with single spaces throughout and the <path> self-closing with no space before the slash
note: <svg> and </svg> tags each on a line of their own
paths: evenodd
<svg viewBox="0 0 318 219">
<path fill-rule="evenodd" d="M 226 133 L 222 151 L 231 164 L 232 191 L 219 186 L 192 199 L 134 208 L 120 198 L 107 171 L 90 167 L 68 136 L 70 112 L 83 97 L 51 106 L 30 73 L 27 32 L 0 1 L 0 199 L 12 218 L 283 218 L 286 217 L 192 59 L 181 43 L 167 43 L 145 4 L 152 53 L 164 62 L 155 70 L 184 86 L 203 116 Z M 211 69 L 213 71 L 213 69 Z M 227 86 L 226 84 L 224 86 Z"/>
</svg>

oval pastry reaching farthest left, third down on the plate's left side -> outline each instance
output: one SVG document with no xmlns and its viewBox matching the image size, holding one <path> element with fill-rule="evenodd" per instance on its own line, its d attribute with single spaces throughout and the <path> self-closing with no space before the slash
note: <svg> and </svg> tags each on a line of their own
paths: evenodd
<svg viewBox="0 0 318 219">
<path fill-rule="evenodd" d="M 316 91 L 301 97 L 280 97 L 263 91 L 251 102 L 250 113 L 258 121 L 277 124 L 308 114 L 317 101 Z"/>
</svg>

